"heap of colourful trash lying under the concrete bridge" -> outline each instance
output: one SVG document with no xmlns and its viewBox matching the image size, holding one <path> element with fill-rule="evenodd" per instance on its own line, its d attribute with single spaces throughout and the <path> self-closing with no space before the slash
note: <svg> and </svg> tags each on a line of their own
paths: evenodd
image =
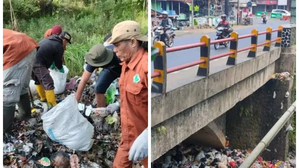
<svg viewBox="0 0 299 168">
<path fill-rule="evenodd" d="M 184 146 L 179 144 L 153 162 L 155 168 L 237 168 L 251 150 Z M 264 161 L 261 157 L 252 168 L 290 168 L 282 161 Z"/>
</svg>

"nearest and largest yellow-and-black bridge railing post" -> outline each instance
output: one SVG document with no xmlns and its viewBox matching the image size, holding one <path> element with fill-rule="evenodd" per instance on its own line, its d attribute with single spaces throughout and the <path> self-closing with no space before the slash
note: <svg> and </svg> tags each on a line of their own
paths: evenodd
<svg viewBox="0 0 299 168">
<path fill-rule="evenodd" d="M 167 79 L 167 66 L 166 66 L 166 45 L 164 42 L 156 42 L 155 48 L 158 48 L 160 54 L 157 54 L 154 60 L 154 72 L 160 72 L 161 76 L 154 77 L 152 81 L 152 92 L 166 93 L 166 79 Z"/>
</svg>

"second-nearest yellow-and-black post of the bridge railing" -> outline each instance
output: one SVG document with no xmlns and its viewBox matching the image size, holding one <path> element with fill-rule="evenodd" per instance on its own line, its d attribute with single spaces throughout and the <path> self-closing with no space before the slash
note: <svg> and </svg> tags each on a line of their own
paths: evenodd
<svg viewBox="0 0 299 168">
<path fill-rule="evenodd" d="M 209 36 L 202 36 L 200 42 L 205 42 L 206 45 L 200 47 L 200 59 L 204 59 L 205 63 L 199 64 L 197 70 L 197 76 L 209 76 L 210 69 L 210 43 L 211 39 Z"/>
</svg>

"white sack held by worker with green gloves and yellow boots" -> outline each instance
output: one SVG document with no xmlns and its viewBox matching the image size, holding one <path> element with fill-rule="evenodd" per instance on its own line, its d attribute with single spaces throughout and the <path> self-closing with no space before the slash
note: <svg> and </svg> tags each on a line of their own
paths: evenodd
<svg viewBox="0 0 299 168">
<path fill-rule="evenodd" d="M 54 81 L 54 93 L 55 94 L 61 94 L 65 90 L 66 86 L 66 78 L 68 76 L 68 68 L 63 65 L 64 73 L 60 73 L 59 71 L 51 70 L 50 75 Z"/>
</svg>

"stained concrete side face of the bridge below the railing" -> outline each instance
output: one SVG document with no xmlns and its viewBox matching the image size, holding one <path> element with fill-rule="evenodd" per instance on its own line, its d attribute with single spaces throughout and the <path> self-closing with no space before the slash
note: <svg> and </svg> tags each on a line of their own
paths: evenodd
<svg viewBox="0 0 299 168">
<path fill-rule="evenodd" d="M 275 60 L 279 56 L 280 48 L 271 47 L 270 52 L 259 52 L 254 59 L 208 78 L 190 77 L 193 82 L 152 97 L 151 161 L 263 86 L 274 74 Z M 165 127 L 166 134 L 156 133 L 161 126 Z"/>
</svg>

